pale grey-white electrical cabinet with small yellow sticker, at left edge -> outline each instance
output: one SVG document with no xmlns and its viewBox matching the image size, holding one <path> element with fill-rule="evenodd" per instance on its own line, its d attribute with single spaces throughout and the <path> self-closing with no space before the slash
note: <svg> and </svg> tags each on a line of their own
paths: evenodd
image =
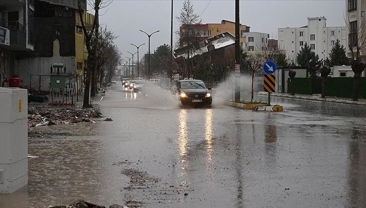
<svg viewBox="0 0 366 208">
<path fill-rule="evenodd" d="M 0 88 L 0 193 L 28 183 L 27 116 L 27 90 Z"/>
</svg>

